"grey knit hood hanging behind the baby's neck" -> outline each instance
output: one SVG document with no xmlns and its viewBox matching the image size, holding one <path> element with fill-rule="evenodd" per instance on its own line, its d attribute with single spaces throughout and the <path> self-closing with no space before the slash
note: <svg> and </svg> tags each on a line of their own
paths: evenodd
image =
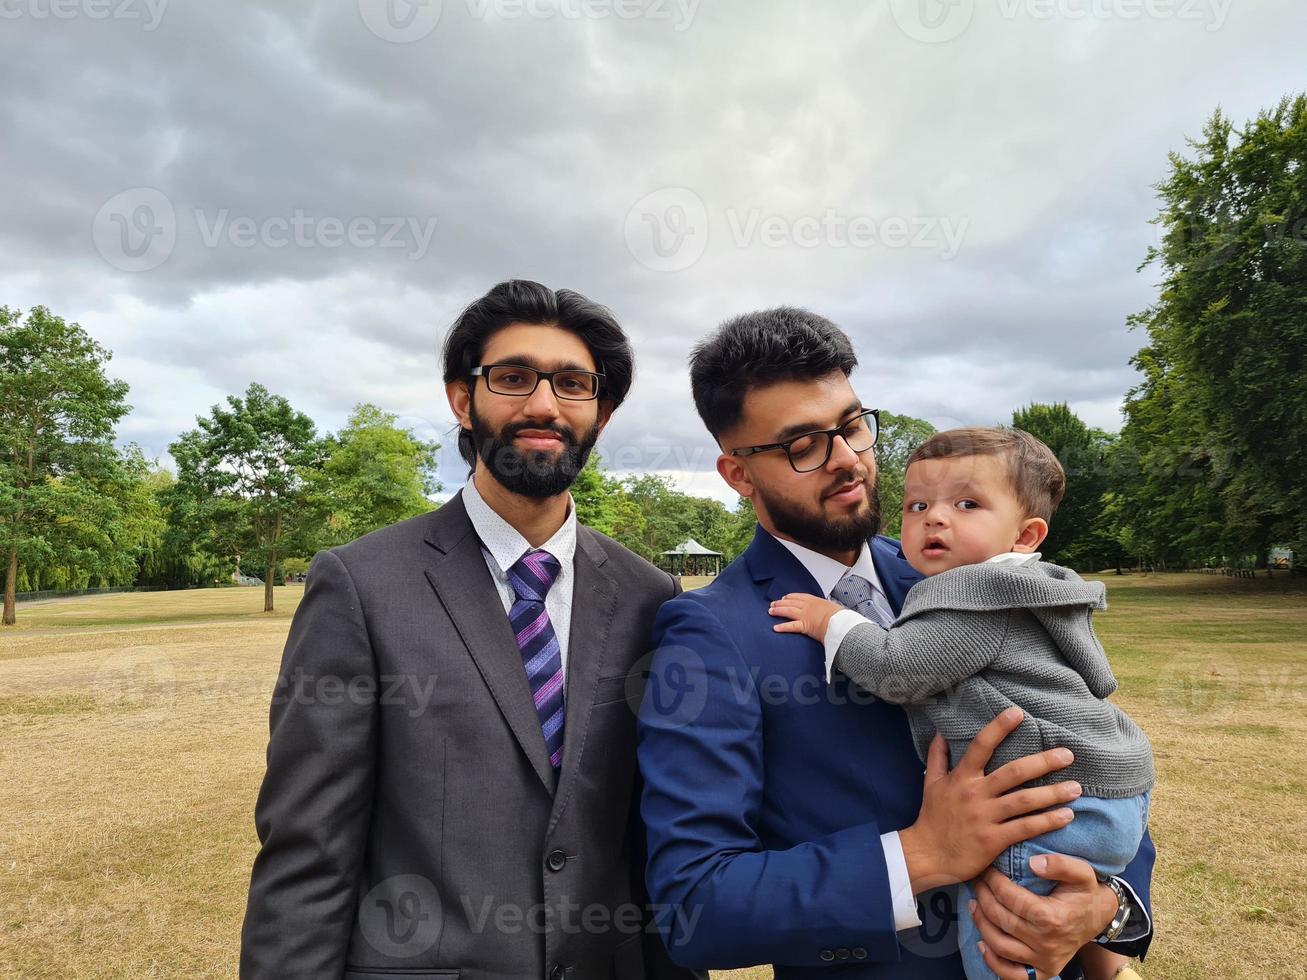
<svg viewBox="0 0 1307 980">
<path fill-rule="evenodd" d="M 1029 610 L 1095 698 L 1116 690 L 1107 653 L 1090 622 L 1093 610 L 1107 609 L 1107 588 L 1100 581 L 1085 581 L 1050 562 L 962 564 L 916 583 L 898 622 L 940 609 Z"/>
</svg>

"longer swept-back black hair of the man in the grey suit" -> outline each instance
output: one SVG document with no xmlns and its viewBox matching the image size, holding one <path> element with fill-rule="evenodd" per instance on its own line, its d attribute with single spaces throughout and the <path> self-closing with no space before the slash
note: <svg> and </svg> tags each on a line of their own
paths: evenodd
<svg viewBox="0 0 1307 980">
<path fill-rule="evenodd" d="M 635 375 L 635 357 L 617 318 L 570 289 L 552 290 L 531 280 L 508 280 L 494 286 L 459 314 L 444 335 L 444 383 L 472 380 L 472 368 L 481 363 L 486 342 L 514 323 L 559 327 L 575 333 L 589 348 L 596 370 L 604 375 L 599 391 L 618 406 L 626 400 Z M 476 465 L 472 434 L 459 430 L 459 455 Z"/>
</svg>

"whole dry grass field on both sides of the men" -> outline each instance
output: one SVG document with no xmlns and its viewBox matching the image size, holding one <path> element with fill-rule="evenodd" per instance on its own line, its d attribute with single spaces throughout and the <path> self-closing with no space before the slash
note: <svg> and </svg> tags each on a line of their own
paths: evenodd
<svg viewBox="0 0 1307 980">
<path fill-rule="evenodd" d="M 1303 977 L 1307 583 L 1106 580 L 1117 702 L 1159 771 L 1142 972 Z M 235 975 L 268 698 L 301 595 L 277 589 L 271 614 L 261 589 L 20 605 L 0 631 L 0 976 Z"/>
</svg>

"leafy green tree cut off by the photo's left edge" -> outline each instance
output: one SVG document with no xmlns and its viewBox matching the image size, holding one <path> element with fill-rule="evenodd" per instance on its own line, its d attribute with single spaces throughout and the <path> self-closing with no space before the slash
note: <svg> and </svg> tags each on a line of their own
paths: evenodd
<svg viewBox="0 0 1307 980">
<path fill-rule="evenodd" d="M 46 307 L 0 307 L 0 553 L 3 623 L 16 622 L 20 566 L 94 558 L 77 533 L 112 504 L 114 427 L 129 406 L 112 355 Z M 125 532 L 124 532 L 125 533 Z"/>
</svg>

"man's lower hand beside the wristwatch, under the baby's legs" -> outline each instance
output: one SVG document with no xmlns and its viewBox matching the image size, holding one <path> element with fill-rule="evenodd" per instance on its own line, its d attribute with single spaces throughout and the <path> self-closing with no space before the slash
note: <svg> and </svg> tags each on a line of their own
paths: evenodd
<svg viewBox="0 0 1307 980">
<path fill-rule="evenodd" d="M 1061 883 L 1046 898 L 995 868 L 975 882 L 971 916 L 984 941 L 984 962 L 1004 980 L 1025 980 L 1023 964 L 1033 966 L 1039 980 L 1057 976 L 1116 912 L 1116 892 L 1099 883 L 1094 869 L 1078 857 L 1038 855 L 1030 858 L 1030 869 Z"/>
</svg>

